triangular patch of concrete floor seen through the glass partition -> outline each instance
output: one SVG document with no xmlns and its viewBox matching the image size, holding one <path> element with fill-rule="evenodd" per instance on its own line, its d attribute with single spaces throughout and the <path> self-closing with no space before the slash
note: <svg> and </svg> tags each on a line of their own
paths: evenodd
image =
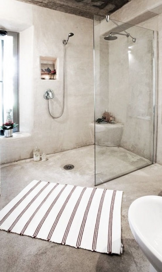
<svg viewBox="0 0 162 272">
<path fill-rule="evenodd" d="M 151 164 L 151 161 L 123 147 L 96 145 L 96 185 Z"/>
</svg>

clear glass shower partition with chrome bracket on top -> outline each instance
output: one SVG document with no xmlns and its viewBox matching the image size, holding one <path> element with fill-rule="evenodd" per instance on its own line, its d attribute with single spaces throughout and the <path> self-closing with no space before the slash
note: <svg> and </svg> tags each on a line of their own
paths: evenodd
<svg viewBox="0 0 162 272">
<path fill-rule="evenodd" d="M 94 17 L 95 185 L 153 163 L 153 41 L 152 30 Z"/>
</svg>

